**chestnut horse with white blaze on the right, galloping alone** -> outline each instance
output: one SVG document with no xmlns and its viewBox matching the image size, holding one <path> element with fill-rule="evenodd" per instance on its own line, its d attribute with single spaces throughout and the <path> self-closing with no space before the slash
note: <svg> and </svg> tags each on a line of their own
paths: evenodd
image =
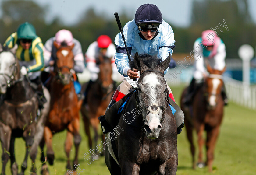
<svg viewBox="0 0 256 175">
<path fill-rule="evenodd" d="M 190 151 L 192 154 L 192 164 L 195 169 L 195 147 L 193 144 L 193 128 L 197 132 L 197 142 L 199 147 L 199 155 L 197 160 L 198 167 L 208 166 L 208 171 L 212 172 L 212 163 L 214 158 L 214 148 L 219 135 L 220 124 L 223 117 L 224 101 L 221 96 L 221 89 L 223 86 L 222 71 L 212 69 L 207 65 L 209 76 L 205 79 L 203 86 L 198 89 L 191 106 L 185 107 L 181 103 L 181 109 L 185 114 L 185 127 L 187 130 L 187 138 L 190 142 Z M 186 96 L 187 88 L 183 91 L 181 102 Z M 206 136 L 206 162 L 203 162 L 202 147 L 204 145 L 203 134 L 207 132 Z"/>
</svg>

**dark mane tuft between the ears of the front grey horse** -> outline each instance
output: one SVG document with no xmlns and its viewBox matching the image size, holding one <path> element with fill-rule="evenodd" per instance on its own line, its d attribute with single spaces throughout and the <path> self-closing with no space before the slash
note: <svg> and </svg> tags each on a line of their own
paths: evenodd
<svg viewBox="0 0 256 175">
<path fill-rule="evenodd" d="M 156 66 L 162 63 L 162 59 L 157 56 L 152 56 L 149 54 L 140 54 L 140 60 L 144 63 L 144 65 L 148 66 L 151 70 L 154 70 Z M 134 60 L 130 63 L 131 68 L 135 68 Z"/>
</svg>

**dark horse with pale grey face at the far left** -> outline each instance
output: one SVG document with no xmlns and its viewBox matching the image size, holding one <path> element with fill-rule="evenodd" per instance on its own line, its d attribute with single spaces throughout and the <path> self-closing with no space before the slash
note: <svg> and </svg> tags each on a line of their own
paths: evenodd
<svg viewBox="0 0 256 175">
<path fill-rule="evenodd" d="M 44 123 L 50 106 L 50 94 L 44 88 L 44 96 L 47 102 L 44 103 L 44 108 L 41 110 L 40 115 L 37 116 L 37 95 L 32 89 L 28 77 L 20 73 L 19 61 L 14 55 L 15 49 L 15 47 L 12 50 L 4 47 L 0 53 L 1 174 L 5 175 L 5 167 L 9 158 L 11 160 L 12 174 L 18 174 L 14 142 L 16 137 L 22 137 L 26 143 L 26 153 L 20 175 L 23 175 L 27 168 L 29 155 L 32 160 L 31 174 L 35 175 L 37 148 L 44 134 Z"/>
</svg>

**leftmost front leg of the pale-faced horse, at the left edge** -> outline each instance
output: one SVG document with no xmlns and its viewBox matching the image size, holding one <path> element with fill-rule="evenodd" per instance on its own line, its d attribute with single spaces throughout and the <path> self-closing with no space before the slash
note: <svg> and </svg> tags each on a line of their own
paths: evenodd
<svg viewBox="0 0 256 175">
<path fill-rule="evenodd" d="M 12 129 L 9 126 L 4 124 L 0 124 L 0 139 L 2 145 L 2 173 L 1 175 L 5 175 L 5 166 L 7 164 L 10 149 L 10 141 L 11 141 Z"/>
</svg>

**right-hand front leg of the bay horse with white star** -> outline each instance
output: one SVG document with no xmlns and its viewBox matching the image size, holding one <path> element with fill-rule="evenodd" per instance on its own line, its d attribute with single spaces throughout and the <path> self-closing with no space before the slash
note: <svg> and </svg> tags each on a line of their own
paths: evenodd
<svg viewBox="0 0 256 175">
<path fill-rule="evenodd" d="M 68 129 L 69 131 L 71 131 L 71 133 L 74 136 L 74 145 L 75 145 L 76 153 L 75 153 L 73 166 L 74 166 L 74 169 L 76 169 L 75 165 L 76 166 L 78 165 L 78 149 L 81 142 L 81 136 L 79 134 L 79 129 L 80 129 L 79 114 L 77 114 L 77 117 L 73 120 L 73 122 L 68 125 Z"/>
</svg>

